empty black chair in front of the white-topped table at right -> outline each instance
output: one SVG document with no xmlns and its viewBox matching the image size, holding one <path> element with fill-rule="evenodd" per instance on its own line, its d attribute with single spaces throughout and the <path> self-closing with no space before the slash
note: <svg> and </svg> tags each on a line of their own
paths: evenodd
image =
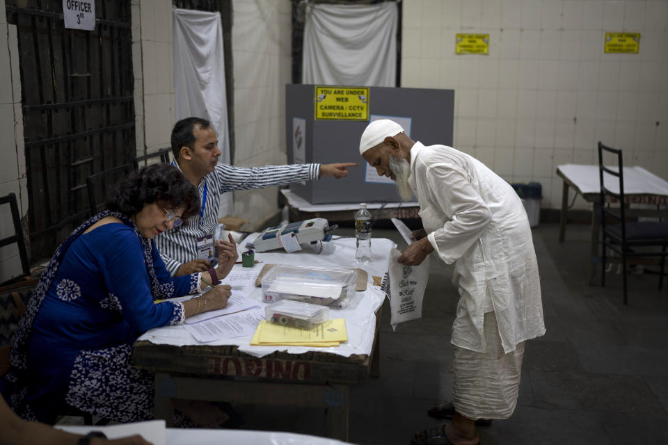
<svg viewBox="0 0 668 445">
<path fill-rule="evenodd" d="M 603 152 L 617 156 L 617 169 L 603 165 Z M 603 181 L 603 173 L 616 177 L 619 181 L 619 193 L 610 191 Z M 606 147 L 598 143 L 598 179 L 601 183 L 601 233 L 603 234 L 603 275 L 601 285 L 605 286 L 605 262 L 607 249 L 617 252 L 621 257 L 622 280 L 624 290 L 624 305 L 628 305 L 626 289 L 626 261 L 628 257 L 658 257 L 659 289 L 662 289 L 663 275 L 668 252 L 668 223 L 654 221 L 627 221 L 626 201 L 624 200 L 624 172 L 620 149 Z M 619 202 L 619 208 L 607 207 L 607 197 L 614 197 Z M 607 225 L 607 220 L 617 220 L 615 225 Z M 660 250 L 658 250 L 660 248 Z"/>
</svg>

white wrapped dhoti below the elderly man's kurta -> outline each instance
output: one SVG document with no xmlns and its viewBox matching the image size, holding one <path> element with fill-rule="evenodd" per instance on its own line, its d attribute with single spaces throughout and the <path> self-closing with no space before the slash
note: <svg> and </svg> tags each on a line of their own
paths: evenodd
<svg viewBox="0 0 668 445">
<path fill-rule="evenodd" d="M 524 341 L 504 353 L 494 312 L 484 318 L 486 353 L 454 347 L 454 410 L 468 419 L 507 419 L 515 411 Z"/>
</svg>

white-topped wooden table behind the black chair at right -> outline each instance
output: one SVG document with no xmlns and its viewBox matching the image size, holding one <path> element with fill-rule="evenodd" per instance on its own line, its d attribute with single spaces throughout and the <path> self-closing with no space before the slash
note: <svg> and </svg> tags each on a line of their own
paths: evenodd
<svg viewBox="0 0 668 445">
<path fill-rule="evenodd" d="M 591 242 L 589 270 L 587 280 L 594 282 L 596 264 L 601 263 L 601 254 L 598 252 L 599 227 L 601 225 L 601 184 L 598 176 L 598 165 L 564 164 L 557 167 L 557 176 L 563 179 L 562 211 L 559 218 L 559 243 L 564 242 L 566 236 L 566 218 L 568 216 L 568 188 L 573 188 L 576 194 L 593 204 L 591 213 Z M 611 175 L 605 177 L 605 185 L 614 192 L 619 192 L 619 186 Z M 668 204 L 668 181 L 661 179 L 642 167 L 624 168 L 624 196 L 626 205 L 653 204 L 657 207 Z M 628 209 L 627 216 L 667 217 L 668 210 L 664 209 Z"/>
</svg>

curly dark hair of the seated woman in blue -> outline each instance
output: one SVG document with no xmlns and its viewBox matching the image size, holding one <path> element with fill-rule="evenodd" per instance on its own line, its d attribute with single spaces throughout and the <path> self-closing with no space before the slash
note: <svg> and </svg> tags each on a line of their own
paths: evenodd
<svg viewBox="0 0 668 445">
<path fill-rule="evenodd" d="M 173 165 L 148 165 L 121 179 L 106 200 L 106 208 L 119 211 L 128 218 L 136 215 L 146 204 L 160 202 L 171 209 L 184 207 L 184 224 L 197 213 L 200 197 L 197 188 Z"/>
</svg>

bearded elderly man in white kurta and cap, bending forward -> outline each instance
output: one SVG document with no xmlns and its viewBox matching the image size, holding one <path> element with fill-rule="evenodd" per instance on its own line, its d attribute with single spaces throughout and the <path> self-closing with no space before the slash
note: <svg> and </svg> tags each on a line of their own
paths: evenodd
<svg viewBox="0 0 668 445">
<path fill-rule="evenodd" d="M 513 188 L 483 163 L 445 145 L 414 142 L 392 120 L 374 121 L 360 154 L 399 193 L 420 203 L 424 234 L 397 261 L 436 251 L 454 263 L 459 305 L 452 326 L 454 418 L 416 444 L 479 442 L 477 419 L 515 410 L 525 341 L 545 333 L 538 265 L 526 211 Z M 417 234 L 416 234 L 417 235 Z"/>
</svg>

